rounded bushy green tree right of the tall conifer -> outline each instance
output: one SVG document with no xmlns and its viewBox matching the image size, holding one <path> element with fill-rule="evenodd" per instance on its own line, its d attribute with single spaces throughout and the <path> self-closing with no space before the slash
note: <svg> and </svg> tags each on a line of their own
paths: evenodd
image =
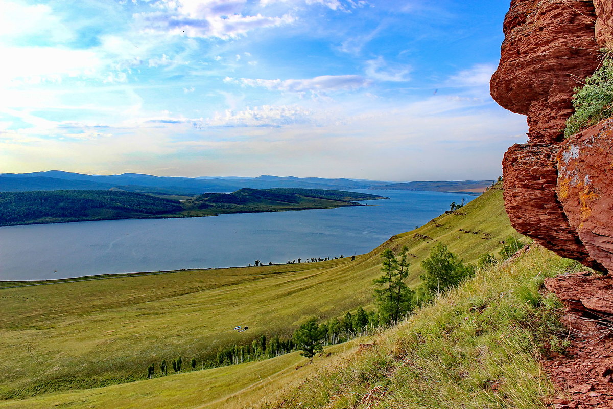
<svg viewBox="0 0 613 409">
<path fill-rule="evenodd" d="M 420 276 L 422 286 L 428 292 L 440 293 L 447 288 L 457 286 L 460 281 L 470 277 L 474 268 L 465 266 L 462 259 L 447 249 L 443 243 L 437 243 L 430 257 L 421 262 L 424 273 Z"/>
</svg>

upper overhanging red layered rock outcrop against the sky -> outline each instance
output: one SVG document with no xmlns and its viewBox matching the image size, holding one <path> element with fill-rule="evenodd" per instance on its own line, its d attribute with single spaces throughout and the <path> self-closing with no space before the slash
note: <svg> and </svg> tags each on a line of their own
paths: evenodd
<svg viewBox="0 0 613 409">
<path fill-rule="evenodd" d="M 530 141 L 562 140 L 577 78 L 598 61 L 592 2 L 512 0 L 492 96 L 502 107 L 528 115 Z"/>
</svg>

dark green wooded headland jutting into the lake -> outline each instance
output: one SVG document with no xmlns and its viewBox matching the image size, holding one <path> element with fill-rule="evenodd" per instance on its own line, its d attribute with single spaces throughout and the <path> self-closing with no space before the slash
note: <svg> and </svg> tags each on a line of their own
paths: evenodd
<svg viewBox="0 0 613 409">
<path fill-rule="evenodd" d="M 248 189 L 177 196 L 120 190 L 56 190 L 0 193 L 0 227 L 20 224 L 140 218 L 215 216 L 360 206 L 387 199 L 376 194 L 324 189 Z"/>
</svg>

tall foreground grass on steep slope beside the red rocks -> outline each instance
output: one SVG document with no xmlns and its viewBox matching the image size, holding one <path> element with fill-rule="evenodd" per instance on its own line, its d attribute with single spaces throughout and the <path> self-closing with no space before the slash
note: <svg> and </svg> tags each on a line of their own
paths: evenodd
<svg viewBox="0 0 613 409">
<path fill-rule="evenodd" d="M 267 408 L 546 408 L 541 352 L 563 343 L 561 307 L 543 278 L 584 270 L 534 245 L 476 277 Z M 562 339 L 560 339 L 562 338 Z"/>
</svg>

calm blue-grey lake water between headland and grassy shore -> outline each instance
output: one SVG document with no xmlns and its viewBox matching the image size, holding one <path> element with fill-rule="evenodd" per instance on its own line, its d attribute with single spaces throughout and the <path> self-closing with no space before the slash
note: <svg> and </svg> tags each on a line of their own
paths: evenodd
<svg viewBox="0 0 613 409">
<path fill-rule="evenodd" d="M 247 266 L 366 253 L 474 197 L 363 191 L 368 206 L 0 227 L 0 280 Z"/>
</svg>

